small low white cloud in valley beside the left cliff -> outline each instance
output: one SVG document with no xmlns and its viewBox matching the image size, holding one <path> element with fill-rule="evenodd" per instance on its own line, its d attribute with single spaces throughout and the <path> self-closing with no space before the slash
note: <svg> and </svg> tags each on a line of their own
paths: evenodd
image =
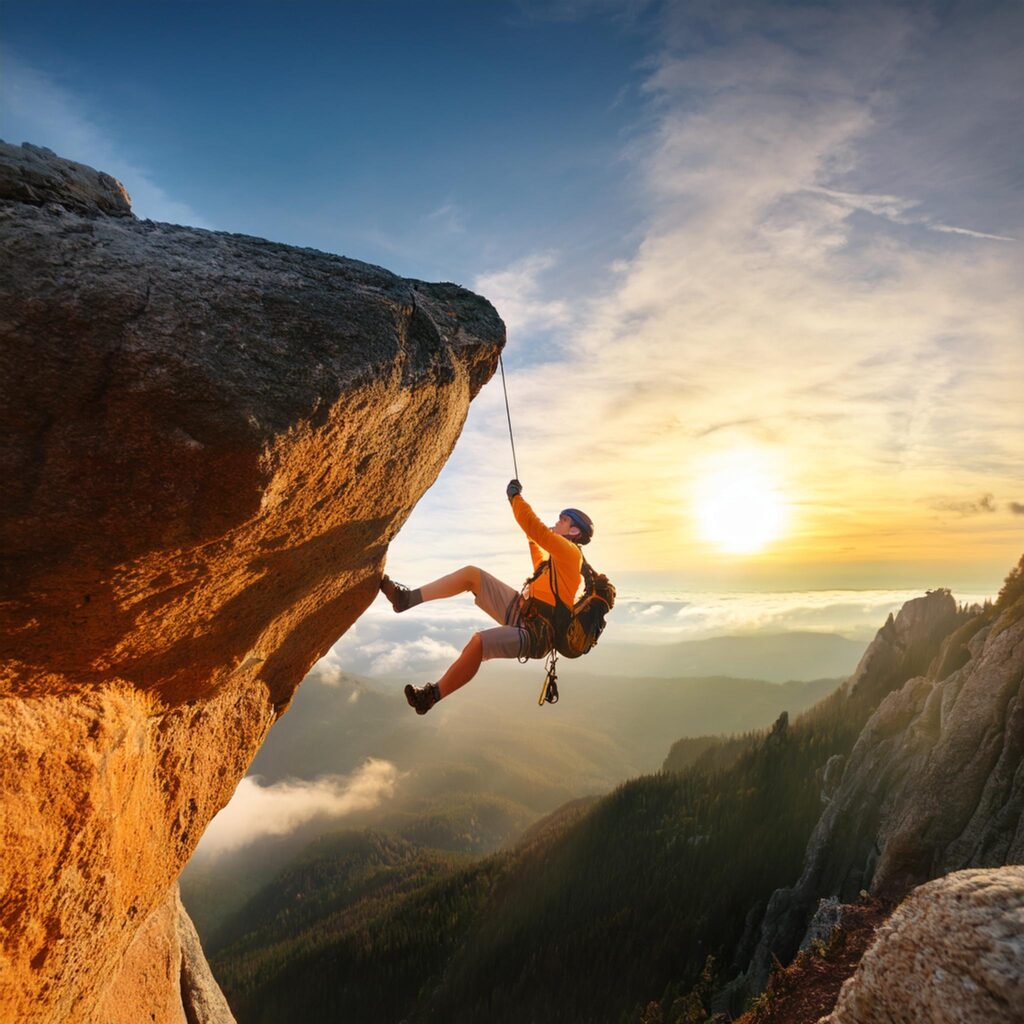
<svg viewBox="0 0 1024 1024">
<path fill-rule="evenodd" d="M 210 822 L 198 853 L 219 856 L 257 839 L 285 836 L 316 817 L 371 810 L 394 795 L 399 777 L 393 764 L 374 758 L 349 776 L 326 776 L 311 782 L 264 786 L 258 776 L 248 776 Z"/>
</svg>

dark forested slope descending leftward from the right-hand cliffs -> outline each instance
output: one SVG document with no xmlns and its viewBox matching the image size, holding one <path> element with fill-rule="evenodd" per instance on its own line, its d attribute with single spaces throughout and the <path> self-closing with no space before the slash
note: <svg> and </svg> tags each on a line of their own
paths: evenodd
<svg viewBox="0 0 1024 1024">
<path fill-rule="evenodd" d="M 902 682 L 890 668 L 731 744 L 727 767 L 712 748 L 473 863 L 401 847 L 369 888 L 339 886 L 344 866 L 286 872 L 273 888 L 298 885 L 301 914 L 251 904 L 245 934 L 213 956 L 218 980 L 242 1024 L 369 1020 L 372 1006 L 374 1020 L 453 1024 L 628 1020 L 652 998 L 671 1010 L 709 956 L 729 975 L 751 920 L 800 873 L 818 771 Z"/>
</svg>

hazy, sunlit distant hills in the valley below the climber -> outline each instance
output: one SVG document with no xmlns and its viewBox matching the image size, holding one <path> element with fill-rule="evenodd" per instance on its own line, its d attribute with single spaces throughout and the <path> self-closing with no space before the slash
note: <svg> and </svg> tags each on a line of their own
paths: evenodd
<svg viewBox="0 0 1024 1024">
<path fill-rule="evenodd" d="M 802 711 L 839 685 L 577 673 L 557 707 L 540 709 L 534 689 L 540 679 L 524 666 L 498 671 L 417 718 L 400 687 L 348 675 L 327 685 L 314 675 L 251 773 L 262 785 L 313 781 L 347 774 L 372 756 L 392 763 L 399 780 L 387 801 L 333 822 L 315 818 L 219 855 L 206 855 L 201 844 L 181 893 L 204 943 L 219 941 L 227 915 L 318 835 L 344 825 L 442 851 L 492 853 L 566 801 L 606 794 L 655 770 L 679 735 L 764 727 L 783 709 Z"/>
</svg>

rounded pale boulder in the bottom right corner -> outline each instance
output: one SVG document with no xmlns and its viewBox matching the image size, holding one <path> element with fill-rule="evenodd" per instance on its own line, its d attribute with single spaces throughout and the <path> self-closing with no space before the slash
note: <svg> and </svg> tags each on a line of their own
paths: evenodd
<svg viewBox="0 0 1024 1024">
<path fill-rule="evenodd" d="M 1024 867 L 922 886 L 876 933 L 827 1024 L 1019 1024 Z"/>
</svg>

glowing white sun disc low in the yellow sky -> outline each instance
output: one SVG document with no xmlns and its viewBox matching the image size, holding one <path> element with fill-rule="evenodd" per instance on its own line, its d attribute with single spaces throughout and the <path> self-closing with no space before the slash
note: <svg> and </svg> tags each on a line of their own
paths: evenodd
<svg viewBox="0 0 1024 1024">
<path fill-rule="evenodd" d="M 716 458 L 697 479 L 693 508 L 700 536 L 728 554 L 762 551 L 785 525 L 786 505 L 770 463 L 753 452 Z"/>
</svg>

